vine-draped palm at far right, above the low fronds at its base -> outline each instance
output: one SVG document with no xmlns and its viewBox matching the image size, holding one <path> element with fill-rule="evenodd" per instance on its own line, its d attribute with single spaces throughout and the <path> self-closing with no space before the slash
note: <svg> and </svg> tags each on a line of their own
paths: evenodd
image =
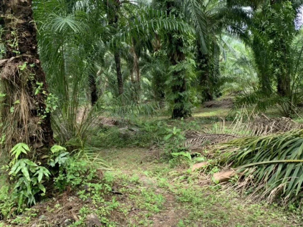
<svg viewBox="0 0 303 227">
<path fill-rule="evenodd" d="M 246 25 L 251 37 L 244 41 L 254 51 L 263 93 L 272 93 L 271 81 L 275 80 L 278 94 L 288 96 L 290 78 L 286 73 L 289 65 L 287 56 L 290 54 L 291 40 L 297 33 L 295 14 L 303 1 L 228 0 L 227 4 L 231 8 L 251 8 L 246 11 L 247 15 L 251 15 L 251 24 Z"/>
</svg>

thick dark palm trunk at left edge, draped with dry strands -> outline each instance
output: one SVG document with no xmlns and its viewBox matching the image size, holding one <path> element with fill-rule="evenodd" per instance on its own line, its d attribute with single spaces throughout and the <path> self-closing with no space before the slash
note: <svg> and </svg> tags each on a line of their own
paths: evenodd
<svg viewBox="0 0 303 227">
<path fill-rule="evenodd" d="M 54 143 L 52 105 L 45 101 L 49 94 L 38 55 L 32 0 L 2 0 L 0 15 L 6 49 L 0 78 L 6 92 L 7 146 L 24 142 L 42 151 Z"/>
</svg>

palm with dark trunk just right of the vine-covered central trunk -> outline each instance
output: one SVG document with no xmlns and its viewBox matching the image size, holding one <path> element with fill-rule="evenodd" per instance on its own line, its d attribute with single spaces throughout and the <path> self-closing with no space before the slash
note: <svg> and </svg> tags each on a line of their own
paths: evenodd
<svg viewBox="0 0 303 227">
<path fill-rule="evenodd" d="M 219 56 L 225 42 L 222 33 L 245 36 L 243 21 L 248 21 L 242 9 L 229 8 L 226 2 L 211 0 L 178 1 L 189 24 L 195 29 L 196 64 L 203 101 L 210 101 L 218 89 Z M 220 47 L 221 46 L 221 47 Z"/>
</svg>

